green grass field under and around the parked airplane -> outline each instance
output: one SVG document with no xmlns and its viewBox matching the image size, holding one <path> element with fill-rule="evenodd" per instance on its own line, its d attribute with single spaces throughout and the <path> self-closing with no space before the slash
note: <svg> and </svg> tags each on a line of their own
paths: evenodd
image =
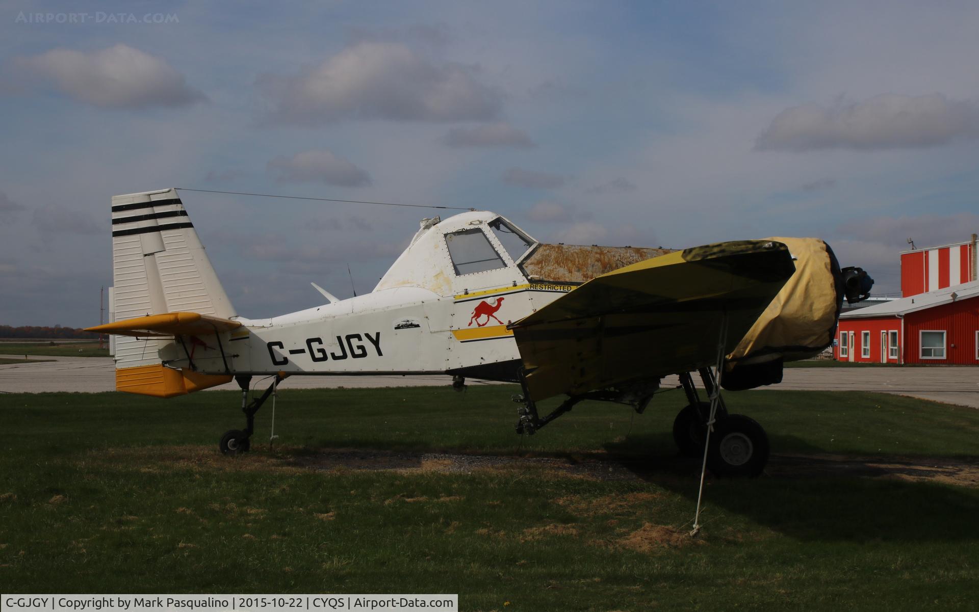
<svg viewBox="0 0 979 612">
<path fill-rule="evenodd" d="M 513 434 L 508 386 L 283 391 L 253 452 L 216 453 L 239 396 L 5 394 L 4 592 L 458 592 L 463 610 L 972 610 L 979 490 L 858 476 L 709 480 L 645 415 L 582 404 Z M 977 411 L 871 393 L 728 394 L 775 454 L 975 462 Z M 389 449 L 411 468 L 319 462 Z M 622 478 L 410 453 L 620 458 Z M 572 461 L 574 462 L 574 461 Z M 604 463 L 603 463 L 604 465 Z M 621 465 L 621 466 L 620 466 Z M 645 467 L 640 467 L 645 466 Z M 404 467 L 403 465 L 401 467 Z M 509 603 L 507 603 L 509 602 Z"/>
</svg>

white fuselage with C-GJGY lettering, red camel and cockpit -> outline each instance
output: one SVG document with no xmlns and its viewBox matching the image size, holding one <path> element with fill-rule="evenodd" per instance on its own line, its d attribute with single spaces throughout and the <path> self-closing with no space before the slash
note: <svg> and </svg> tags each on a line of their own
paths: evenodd
<svg viewBox="0 0 979 612">
<path fill-rule="evenodd" d="M 270 319 L 235 317 L 242 328 L 219 334 L 219 343 L 210 336 L 186 352 L 174 347 L 179 350 L 169 363 L 190 365 L 189 353 L 199 372 L 251 374 L 513 366 L 520 354 L 506 326 L 573 285 L 528 280 L 517 265 L 520 257 L 514 261 L 486 227 L 495 218 L 488 212 L 464 213 L 423 228 L 371 293 Z M 459 274 L 445 236 L 474 230 L 485 232 L 504 265 Z"/>
</svg>

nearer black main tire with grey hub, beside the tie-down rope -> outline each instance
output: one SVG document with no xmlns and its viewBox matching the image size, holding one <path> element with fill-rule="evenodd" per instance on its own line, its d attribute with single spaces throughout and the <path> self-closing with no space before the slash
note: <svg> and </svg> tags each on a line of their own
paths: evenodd
<svg viewBox="0 0 979 612">
<path fill-rule="evenodd" d="M 707 467 L 716 476 L 754 478 L 769 462 L 769 436 L 758 421 L 745 415 L 727 415 L 711 432 Z"/>
</svg>

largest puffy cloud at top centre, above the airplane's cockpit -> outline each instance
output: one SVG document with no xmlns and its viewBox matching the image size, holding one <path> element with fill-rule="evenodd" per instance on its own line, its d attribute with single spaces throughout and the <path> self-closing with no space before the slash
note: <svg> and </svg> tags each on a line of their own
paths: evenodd
<svg viewBox="0 0 979 612">
<path fill-rule="evenodd" d="M 318 125 L 341 119 L 483 121 L 502 95 L 479 69 L 438 64 L 395 42 L 361 41 L 295 75 L 262 74 L 256 85 L 274 123 Z"/>
</svg>

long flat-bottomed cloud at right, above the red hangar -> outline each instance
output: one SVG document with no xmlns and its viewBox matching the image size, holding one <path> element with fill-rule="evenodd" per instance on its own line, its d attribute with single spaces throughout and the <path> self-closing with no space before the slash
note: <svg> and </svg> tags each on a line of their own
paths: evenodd
<svg viewBox="0 0 979 612">
<path fill-rule="evenodd" d="M 942 94 L 882 94 L 831 108 L 785 109 L 758 137 L 759 151 L 863 151 L 936 147 L 979 137 L 979 108 Z"/>
</svg>

